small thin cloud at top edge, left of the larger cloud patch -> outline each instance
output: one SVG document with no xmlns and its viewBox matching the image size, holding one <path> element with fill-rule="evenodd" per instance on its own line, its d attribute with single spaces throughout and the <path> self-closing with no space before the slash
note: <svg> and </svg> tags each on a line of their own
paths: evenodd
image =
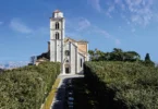
<svg viewBox="0 0 158 109">
<path fill-rule="evenodd" d="M 101 12 L 100 0 L 88 0 L 88 2 L 92 4 L 92 7 L 95 10 L 97 10 L 98 12 Z"/>
</svg>

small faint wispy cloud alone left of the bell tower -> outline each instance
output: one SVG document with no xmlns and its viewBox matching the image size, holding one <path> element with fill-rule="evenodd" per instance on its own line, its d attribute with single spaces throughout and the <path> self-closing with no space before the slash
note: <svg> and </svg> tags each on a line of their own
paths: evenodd
<svg viewBox="0 0 158 109">
<path fill-rule="evenodd" d="M 31 34 L 33 29 L 29 28 L 25 23 L 23 23 L 20 19 L 12 19 L 10 22 L 10 27 L 22 34 Z"/>
</svg>

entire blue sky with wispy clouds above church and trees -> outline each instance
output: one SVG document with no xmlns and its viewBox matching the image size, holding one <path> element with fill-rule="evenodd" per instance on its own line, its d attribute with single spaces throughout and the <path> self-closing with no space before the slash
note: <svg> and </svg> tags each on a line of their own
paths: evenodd
<svg viewBox="0 0 158 109">
<path fill-rule="evenodd" d="M 157 0 L 1 0 L 0 63 L 27 62 L 47 51 L 54 10 L 63 12 L 65 36 L 89 49 L 133 50 L 158 62 Z"/>
</svg>

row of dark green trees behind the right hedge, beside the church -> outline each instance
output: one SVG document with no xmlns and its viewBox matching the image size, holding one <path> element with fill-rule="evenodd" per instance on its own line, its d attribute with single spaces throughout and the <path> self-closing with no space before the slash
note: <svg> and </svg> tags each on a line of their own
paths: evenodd
<svg viewBox="0 0 158 109">
<path fill-rule="evenodd" d="M 123 51 L 120 48 L 113 48 L 111 52 L 104 52 L 100 50 L 89 50 L 92 61 L 123 61 L 123 62 L 139 62 L 144 65 L 155 65 L 150 60 L 149 53 L 146 55 L 145 60 L 141 60 L 141 56 L 136 51 Z"/>
</svg>

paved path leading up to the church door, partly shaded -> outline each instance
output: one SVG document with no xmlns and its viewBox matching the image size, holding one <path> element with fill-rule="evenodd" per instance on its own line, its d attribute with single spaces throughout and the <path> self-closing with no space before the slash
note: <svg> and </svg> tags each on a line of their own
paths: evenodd
<svg viewBox="0 0 158 109">
<path fill-rule="evenodd" d="M 64 95 L 66 81 L 74 77 L 84 77 L 84 75 L 59 75 L 58 77 L 61 78 L 61 81 L 58 86 L 58 93 L 52 101 L 51 109 L 64 109 Z"/>
</svg>

